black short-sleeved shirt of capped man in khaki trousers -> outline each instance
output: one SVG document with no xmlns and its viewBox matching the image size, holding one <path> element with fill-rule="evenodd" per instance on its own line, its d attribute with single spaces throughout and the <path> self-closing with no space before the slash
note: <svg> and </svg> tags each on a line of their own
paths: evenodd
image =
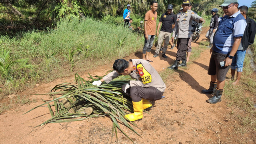
<svg viewBox="0 0 256 144">
<path fill-rule="evenodd" d="M 160 31 L 172 32 L 172 24 L 175 24 L 176 22 L 176 15 L 173 13 L 168 14 L 167 12 L 165 12 L 164 14 L 162 14 L 159 22 L 162 22 L 162 27 Z"/>
</svg>

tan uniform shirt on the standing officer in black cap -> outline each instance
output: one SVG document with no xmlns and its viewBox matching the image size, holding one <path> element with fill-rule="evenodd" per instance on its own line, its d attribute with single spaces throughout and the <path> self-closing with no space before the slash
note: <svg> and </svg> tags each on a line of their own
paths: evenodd
<svg viewBox="0 0 256 144">
<path fill-rule="evenodd" d="M 200 18 L 192 10 L 178 13 L 172 37 L 178 34 L 178 38 L 190 38 L 192 30 L 191 21 L 199 22 Z"/>
</svg>

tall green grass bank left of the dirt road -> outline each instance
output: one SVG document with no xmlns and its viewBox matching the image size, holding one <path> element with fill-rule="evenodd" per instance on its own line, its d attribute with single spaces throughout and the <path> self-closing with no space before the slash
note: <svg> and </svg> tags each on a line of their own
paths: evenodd
<svg viewBox="0 0 256 144">
<path fill-rule="evenodd" d="M 120 46 L 118 42 L 125 37 Z M 5 79 L 1 77 L 0 91 L 4 91 L 4 94 L 16 93 L 36 82 L 49 82 L 68 76 L 70 70 L 82 72 L 123 58 L 142 48 L 143 39 L 122 25 L 107 24 L 93 18 L 63 20 L 48 32 L 34 30 L 14 38 L 2 36 L 0 52 L 10 50 L 13 60 L 27 59 L 30 68 L 13 65 L 10 76 L 14 81 L 8 87 L 2 87 Z M 72 64 L 66 58 L 70 50 L 76 51 Z"/>
</svg>

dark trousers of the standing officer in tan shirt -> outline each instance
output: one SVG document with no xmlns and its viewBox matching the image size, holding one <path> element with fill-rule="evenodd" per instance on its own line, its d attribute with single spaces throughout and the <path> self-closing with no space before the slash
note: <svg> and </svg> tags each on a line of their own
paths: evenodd
<svg viewBox="0 0 256 144">
<path fill-rule="evenodd" d="M 178 51 L 176 54 L 176 60 L 187 59 L 186 50 L 188 48 L 188 41 L 189 41 L 189 38 L 178 38 L 178 41 L 177 41 Z"/>
</svg>

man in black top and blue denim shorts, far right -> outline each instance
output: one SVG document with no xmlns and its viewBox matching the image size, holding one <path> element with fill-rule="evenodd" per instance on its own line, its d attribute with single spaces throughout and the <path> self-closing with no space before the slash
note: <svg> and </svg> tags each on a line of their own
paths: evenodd
<svg viewBox="0 0 256 144">
<path fill-rule="evenodd" d="M 250 44 L 253 44 L 255 34 L 256 34 L 256 23 L 253 19 L 246 16 L 248 12 L 247 6 L 240 6 L 238 8 L 240 10 L 240 13 L 244 16 L 247 26 L 244 31 L 244 36 L 242 37 L 241 43 L 238 47 L 238 50 L 236 54 L 234 55 L 232 59 L 232 64 L 230 66 L 231 68 L 231 79 L 234 80 L 235 72 L 236 73 L 236 81 L 233 82 L 233 84 L 238 84 L 242 71 L 243 71 L 243 64 L 244 64 L 244 57 L 246 54 L 246 50 Z"/>
</svg>

